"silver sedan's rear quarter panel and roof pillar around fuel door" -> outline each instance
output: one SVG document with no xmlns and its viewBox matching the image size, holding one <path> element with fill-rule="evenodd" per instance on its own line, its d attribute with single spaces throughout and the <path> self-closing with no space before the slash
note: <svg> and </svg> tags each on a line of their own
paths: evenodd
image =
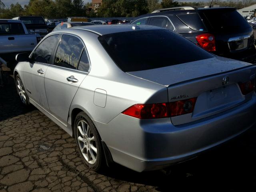
<svg viewBox="0 0 256 192">
<path fill-rule="evenodd" d="M 165 86 L 137 78 L 120 70 L 98 41 L 97 34 L 84 30 L 78 30 L 76 34 L 86 45 L 91 69 L 74 96 L 70 106 L 69 124 L 72 122 L 70 117 L 75 108 L 86 112 L 92 120 L 107 124 L 134 104 L 168 102 Z M 96 89 L 106 92 L 106 105 L 103 107 L 95 105 Z M 98 131 L 101 134 L 101 130 Z"/>
</svg>

